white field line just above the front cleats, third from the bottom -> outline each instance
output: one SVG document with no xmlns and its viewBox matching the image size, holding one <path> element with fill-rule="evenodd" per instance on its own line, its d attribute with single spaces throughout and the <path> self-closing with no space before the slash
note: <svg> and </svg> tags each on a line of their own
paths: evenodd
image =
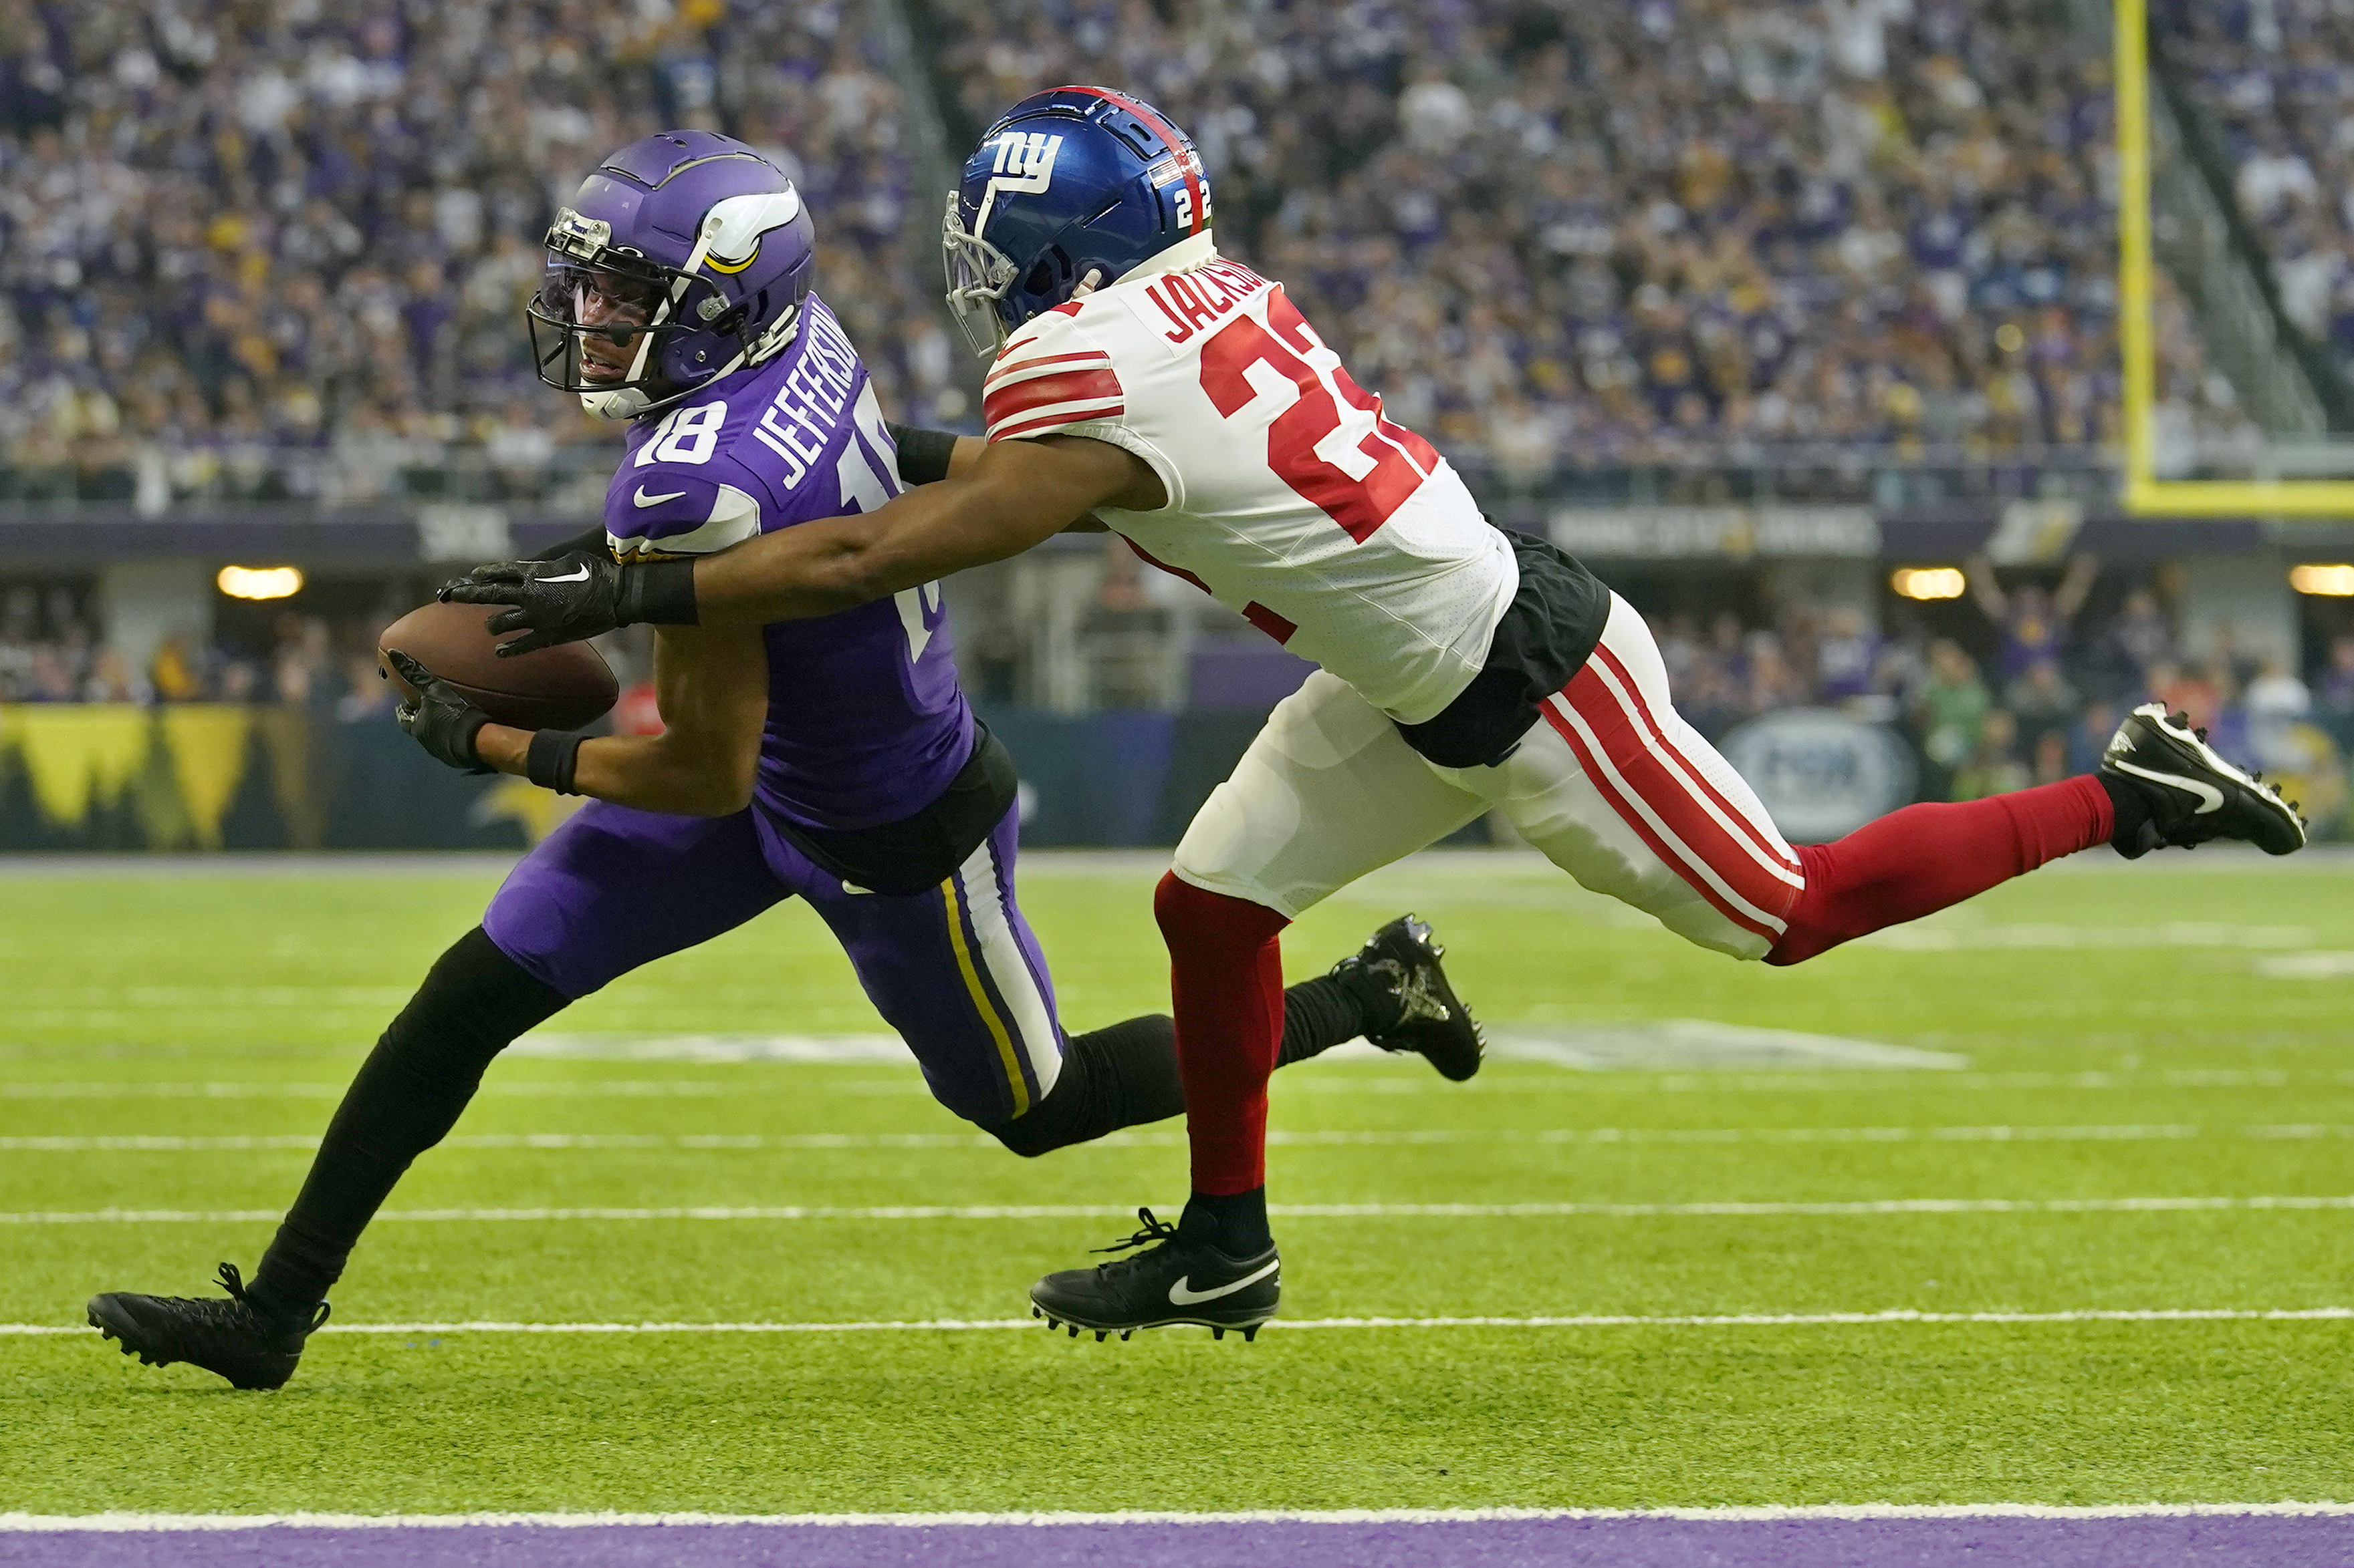
<svg viewBox="0 0 2354 1568">
<path fill-rule="evenodd" d="M 2185 1213 L 2185 1211 L 2354 1208 L 2354 1194 L 2147 1197 L 2147 1199 L 1862 1199 L 1862 1201 L 1721 1201 L 1721 1204 L 1269 1204 L 1278 1220 L 1657 1220 L 1890 1213 Z M 970 1206 L 767 1206 L 767 1208 L 386 1208 L 384 1220 L 1125 1220 L 1130 1204 L 970 1204 Z M 0 1213 L 0 1225 L 250 1225 L 280 1220 L 278 1208 L 89 1208 Z"/>
</svg>

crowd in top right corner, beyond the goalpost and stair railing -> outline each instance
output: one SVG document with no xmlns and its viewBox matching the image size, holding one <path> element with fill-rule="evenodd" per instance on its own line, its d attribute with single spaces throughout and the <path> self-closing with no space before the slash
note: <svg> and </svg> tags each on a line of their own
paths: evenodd
<svg viewBox="0 0 2354 1568">
<path fill-rule="evenodd" d="M 2161 0 L 2163 56 L 2220 129 L 2281 313 L 2354 369 L 2354 12 L 2333 0 Z"/>
</svg>

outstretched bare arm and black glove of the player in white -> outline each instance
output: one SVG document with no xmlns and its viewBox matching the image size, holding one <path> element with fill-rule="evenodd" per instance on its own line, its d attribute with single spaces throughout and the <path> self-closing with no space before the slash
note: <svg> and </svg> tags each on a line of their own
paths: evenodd
<svg viewBox="0 0 2354 1568">
<path fill-rule="evenodd" d="M 476 567 L 440 597 L 511 604 L 490 618 L 494 635 L 525 632 L 499 646 L 508 656 L 636 621 L 746 630 L 831 616 L 1019 555 L 1097 505 L 1144 512 L 1168 496 L 1149 463 L 1111 442 L 991 442 L 970 473 L 920 484 L 873 512 L 803 522 L 697 559 Z"/>
</svg>

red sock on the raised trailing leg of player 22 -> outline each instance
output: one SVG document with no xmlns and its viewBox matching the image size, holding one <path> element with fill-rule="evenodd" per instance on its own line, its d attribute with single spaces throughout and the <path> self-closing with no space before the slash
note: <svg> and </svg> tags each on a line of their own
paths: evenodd
<svg viewBox="0 0 2354 1568">
<path fill-rule="evenodd" d="M 1977 898 L 2046 860 L 2107 844 L 2109 790 L 2093 773 L 1951 806 L 1904 806 L 1834 844 L 1801 844 L 1806 893 L 1768 964 L 1831 947 Z"/>
</svg>

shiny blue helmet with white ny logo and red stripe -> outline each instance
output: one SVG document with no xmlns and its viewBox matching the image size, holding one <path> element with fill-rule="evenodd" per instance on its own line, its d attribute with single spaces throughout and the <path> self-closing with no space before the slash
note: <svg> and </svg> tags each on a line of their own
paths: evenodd
<svg viewBox="0 0 2354 1568">
<path fill-rule="evenodd" d="M 1052 87 L 1005 110 L 949 193 L 949 310 L 977 355 L 1210 228 L 1193 139 L 1142 99 Z"/>
</svg>

